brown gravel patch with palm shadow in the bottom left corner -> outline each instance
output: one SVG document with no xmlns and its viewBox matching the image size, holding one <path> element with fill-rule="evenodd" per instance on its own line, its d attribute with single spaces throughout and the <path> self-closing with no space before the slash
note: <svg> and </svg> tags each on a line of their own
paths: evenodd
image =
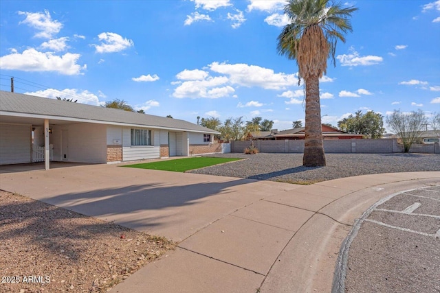
<svg viewBox="0 0 440 293">
<path fill-rule="evenodd" d="M 174 247 L 162 237 L 0 191 L 0 292 L 107 292 Z"/>
</svg>

